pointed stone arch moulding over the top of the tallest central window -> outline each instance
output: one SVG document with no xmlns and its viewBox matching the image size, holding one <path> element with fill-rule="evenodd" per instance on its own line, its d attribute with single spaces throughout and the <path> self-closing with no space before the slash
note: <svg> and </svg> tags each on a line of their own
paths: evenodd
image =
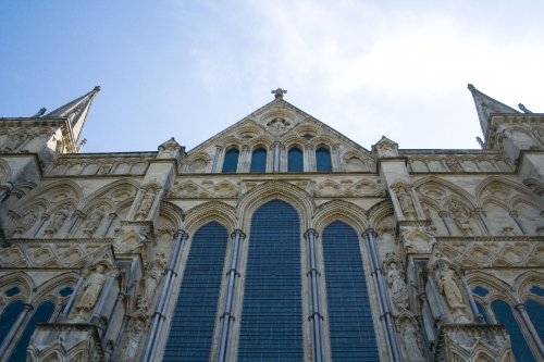
<svg viewBox="0 0 544 362">
<path fill-rule="evenodd" d="M 308 192 L 289 183 L 271 180 L 256 186 L 244 194 L 236 205 L 237 228 L 248 229 L 249 220 L 260 205 L 279 199 L 293 205 L 300 214 L 304 229 L 310 227 L 314 202 Z"/>
</svg>

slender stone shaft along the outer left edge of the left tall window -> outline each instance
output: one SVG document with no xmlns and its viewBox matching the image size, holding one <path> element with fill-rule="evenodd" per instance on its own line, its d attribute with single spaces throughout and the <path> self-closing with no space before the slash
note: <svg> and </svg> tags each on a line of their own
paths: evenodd
<svg viewBox="0 0 544 362">
<path fill-rule="evenodd" d="M 170 297 L 172 295 L 173 280 L 177 276 L 177 269 L 180 265 L 180 254 L 184 245 L 184 241 L 188 238 L 188 235 L 184 230 L 177 230 L 174 236 L 174 250 L 172 257 L 169 260 L 166 271 L 164 274 L 164 283 L 162 285 L 162 291 L 160 299 L 157 302 L 154 313 L 151 316 L 151 324 L 149 327 L 149 333 L 147 335 L 146 346 L 144 348 L 143 361 L 154 361 L 154 354 L 157 351 L 157 346 L 159 345 L 158 337 L 162 332 L 162 324 L 165 320 L 165 310 L 170 302 Z"/>
</svg>

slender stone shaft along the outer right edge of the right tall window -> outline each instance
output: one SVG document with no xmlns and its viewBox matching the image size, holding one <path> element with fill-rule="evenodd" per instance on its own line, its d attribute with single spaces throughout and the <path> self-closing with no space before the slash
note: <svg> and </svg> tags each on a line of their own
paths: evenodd
<svg viewBox="0 0 544 362">
<path fill-rule="evenodd" d="M 380 319 L 385 322 L 385 330 L 387 335 L 388 346 L 392 351 L 392 361 L 401 361 L 400 348 L 397 340 L 397 335 L 395 330 L 395 322 L 393 320 L 393 314 L 391 312 L 391 302 L 387 295 L 387 289 L 385 282 L 383 279 L 382 263 L 380 261 L 380 255 L 378 254 L 378 248 L 375 245 L 375 233 L 372 228 L 364 232 L 363 236 L 367 239 L 369 250 L 370 250 L 370 262 L 372 264 L 372 276 L 375 278 L 375 284 L 378 286 L 378 299 L 381 305 L 381 316 Z"/>
</svg>

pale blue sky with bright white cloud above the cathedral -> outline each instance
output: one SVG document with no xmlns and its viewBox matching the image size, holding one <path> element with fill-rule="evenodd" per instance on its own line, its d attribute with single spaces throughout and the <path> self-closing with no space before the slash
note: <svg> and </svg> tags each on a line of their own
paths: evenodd
<svg viewBox="0 0 544 362">
<path fill-rule="evenodd" d="M 101 86 L 84 152 L 187 150 L 273 100 L 370 149 L 478 149 L 467 84 L 544 113 L 544 2 L 0 0 L 0 116 Z"/>
</svg>

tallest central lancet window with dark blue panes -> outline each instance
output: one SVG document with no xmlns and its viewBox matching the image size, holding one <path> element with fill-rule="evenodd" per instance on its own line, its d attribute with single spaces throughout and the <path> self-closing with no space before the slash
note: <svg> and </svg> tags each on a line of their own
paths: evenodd
<svg viewBox="0 0 544 362">
<path fill-rule="evenodd" d="M 251 220 L 237 361 L 302 361 L 300 223 L 273 200 Z"/>
</svg>

